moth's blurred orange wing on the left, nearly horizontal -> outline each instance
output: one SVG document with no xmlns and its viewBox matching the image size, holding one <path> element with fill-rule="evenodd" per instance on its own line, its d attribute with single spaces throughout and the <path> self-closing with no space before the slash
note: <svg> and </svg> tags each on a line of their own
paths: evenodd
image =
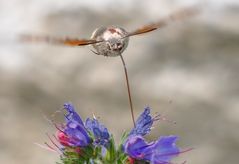
<svg viewBox="0 0 239 164">
<path fill-rule="evenodd" d="M 33 35 L 21 35 L 20 40 L 23 42 L 43 42 L 49 44 L 61 44 L 67 46 L 85 46 L 89 44 L 99 43 L 101 41 L 96 41 L 92 39 L 60 39 L 48 36 L 33 36 Z"/>
</svg>

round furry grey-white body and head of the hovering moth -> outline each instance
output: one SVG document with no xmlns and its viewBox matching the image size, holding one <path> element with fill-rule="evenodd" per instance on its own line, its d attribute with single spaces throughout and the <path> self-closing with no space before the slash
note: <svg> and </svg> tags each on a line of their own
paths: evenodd
<svg viewBox="0 0 239 164">
<path fill-rule="evenodd" d="M 100 27 L 96 29 L 91 38 L 102 41 L 93 44 L 95 53 L 103 56 L 119 56 L 128 46 L 127 32 L 120 27 Z"/>
</svg>

